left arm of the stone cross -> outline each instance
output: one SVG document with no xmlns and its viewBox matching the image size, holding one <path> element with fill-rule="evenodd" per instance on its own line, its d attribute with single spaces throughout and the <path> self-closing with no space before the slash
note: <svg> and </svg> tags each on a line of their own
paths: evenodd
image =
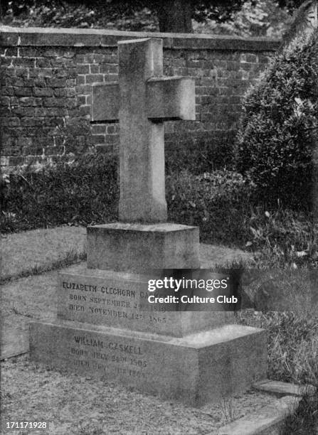
<svg viewBox="0 0 318 435">
<path fill-rule="evenodd" d="M 120 88 L 109 82 L 92 85 L 92 122 L 117 122 L 120 112 Z"/>
</svg>

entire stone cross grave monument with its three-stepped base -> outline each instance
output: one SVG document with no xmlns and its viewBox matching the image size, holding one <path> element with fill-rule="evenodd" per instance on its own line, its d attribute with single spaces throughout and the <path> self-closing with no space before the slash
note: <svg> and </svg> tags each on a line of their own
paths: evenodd
<svg viewBox="0 0 318 435">
<path fill-rule="evenodd" d="M 88 227 L 87 267 L 59 275 L 58 318 L 32 322 L 36 362 L 192 405 L 266 376 L 265 331 L 233 313 L 144 311 L 149 269 L 200 267 L 198 228 L 166 222 L 164 121 L 195 119 L 194 80 L 163 76 L 162 41 L 118 43 L 92 122 L 120 122 L 119 222 Z"/>
</svg>

